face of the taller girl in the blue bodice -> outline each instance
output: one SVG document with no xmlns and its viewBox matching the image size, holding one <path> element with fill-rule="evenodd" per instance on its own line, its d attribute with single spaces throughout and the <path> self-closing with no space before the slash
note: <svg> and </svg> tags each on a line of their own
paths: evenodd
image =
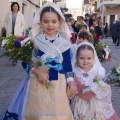
<svg viewBox="0 0 120 120">
<path fill-rule="evenodd" d="M 47 37 L 54 37 L 60 27 L 60 20 L 54 12 L 45 12 L 40 25 Z"/>
</svg>

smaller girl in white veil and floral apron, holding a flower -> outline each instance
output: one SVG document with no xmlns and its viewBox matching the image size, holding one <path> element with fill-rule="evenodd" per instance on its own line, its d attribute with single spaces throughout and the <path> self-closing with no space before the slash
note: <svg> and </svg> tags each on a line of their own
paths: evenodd
<svg viewBox="0 0 120 120">
<path fill-rule="evenodd" d="M 119 120 L 112 106 L 111 88 L 102 81 L 105 70 L 91 43 L 77 46 L 73 66 L 78 90 L 71 103 L 74 120 Z"/>
</svg>

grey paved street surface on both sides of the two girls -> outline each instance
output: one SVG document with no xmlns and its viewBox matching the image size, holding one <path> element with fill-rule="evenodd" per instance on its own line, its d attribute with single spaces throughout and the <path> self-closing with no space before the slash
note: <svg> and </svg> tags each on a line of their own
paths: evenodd
<svg viewBox="0 0 120 120">
<path fill-rule="evenodd" d="M 105 39 L 104 42 L 107 43 L 112 50 L 112 60 L 107 63 L 102 63 L 108 72 L 112 67 L 117 67 L 120 63 L 120 46 L 114 46 L 111 38 Z M 0 53 L 2 52 L 3 50 L 0 50 Z M 25 74 L 20 62 L 18 62 L 16 66 L 12 66 L 8 59 L 0 59 L 0 120 Z M 120 116 L 120 87 L 111 85 L 111 88 L 113 106 Z"/>
</svg>

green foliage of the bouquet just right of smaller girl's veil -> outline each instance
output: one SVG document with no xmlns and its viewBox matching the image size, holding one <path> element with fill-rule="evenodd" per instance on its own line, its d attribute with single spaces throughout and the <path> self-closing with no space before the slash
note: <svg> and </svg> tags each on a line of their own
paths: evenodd
<svg viewBox="0 0 120 120">
<path fill-rule="evenodd" d="M 97 52 L 97 56 L 100 60 L 100 62 L 104 62 L 105 59 L 104 59 L 104 53 L 103 53 L 103 48 L 104 48 L 104 44 L 102 42 L 99 42 L 96 46 L 95 46 L 95 50 Z"/>
</svg>

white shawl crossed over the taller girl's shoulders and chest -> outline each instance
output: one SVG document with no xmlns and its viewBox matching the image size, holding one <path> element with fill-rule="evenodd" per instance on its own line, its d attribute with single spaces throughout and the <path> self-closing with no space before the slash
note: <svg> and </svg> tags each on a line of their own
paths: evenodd
<svg viewBox="0 0 120 120">
<path fill-rule="evenodd" d="M 47 57 L 59 57 L 59 62 L 62 63 L 62 53 L 71 47 L 71 43 L 61 35 L 59 35 L 59 37 L 51 43 L 49 40 L 45 39 L 44 34 L 39 34 L 35 37 L 34 44 L 36 48 L 45 53 L 41 56 L 41 60 L 43 62 L 45 62 Z"/>
</svg>

